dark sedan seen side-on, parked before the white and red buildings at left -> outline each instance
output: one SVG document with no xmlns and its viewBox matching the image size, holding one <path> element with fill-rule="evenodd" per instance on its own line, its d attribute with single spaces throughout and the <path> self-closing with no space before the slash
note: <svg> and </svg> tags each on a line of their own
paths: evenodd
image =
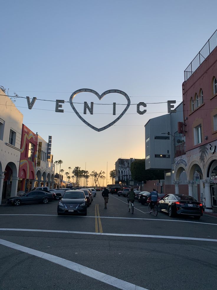
<svg viewBox="0 0 217 290">
<path fill-rule="evenodd" d="M 42 190 L 33 190 L 25 192 L 19 196 L 10 197 L 7 199 L 7 204 L 21 205 L 24 203 L 47 203 L 54 199 L 53 193 L 48 193 Z"/>
</svg>

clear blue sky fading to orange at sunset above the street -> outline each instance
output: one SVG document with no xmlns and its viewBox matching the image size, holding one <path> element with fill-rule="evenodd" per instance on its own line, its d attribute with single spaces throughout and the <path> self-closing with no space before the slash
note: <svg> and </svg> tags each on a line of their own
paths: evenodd
<svg viewBox="0 0 217 290">
<path fill-rule="evenodd" d="M 52 136 L 53 159 L 63 160 L 65 172 L 102 170 L 111 183 L 118 158 L 145 158 L 147 121 L 167 114 L 167 100 L 182 101 L 184 70 L 217 28 L 213 7 L 209 0 L 2 0 L 0 85 L 24 97 L 15 102 L 23 123 L 46 141 Z M 82 88 L 100 95 L 121 90 L 131 105 L 113 126 L 96 132 L 69 103 Z M 37 98 L 31 110 L 26 96 Z M 55 112 L 57 99 L 65 100 L 64 113 Z M 84 101 L 94 103 L 93 115 L 83 114 Z M 114 102 L 120 104 L 116 116 Z M 147 104 L 143 115 L 139 102 Z M 127 101 L 121 94 L 99 100 L 79 93 L 73 103 L 101 128 Z"/>
</svg>

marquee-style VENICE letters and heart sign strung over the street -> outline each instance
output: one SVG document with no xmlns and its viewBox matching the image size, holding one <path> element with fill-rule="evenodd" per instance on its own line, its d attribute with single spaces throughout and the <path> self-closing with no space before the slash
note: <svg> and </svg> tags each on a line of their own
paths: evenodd
<svg viewBox="0 0 217 290">
<path fill-rule="evenodd" d="M 126 107 L 124 108 L 124 110 L 121 112 L 121 114 L 119 114 L 119 116 L 114 120 L 112 121 L 111 123 L 107 124 L 106 126 L 103 126 L 101 128 L 97 128 L 97 127 L 94 127 L 93 125 L 91 125 L 89 122 L 87 122 L 79 113 L 78 111 L 75 109 L 74 107 L 74 104 L 73 104 L 73 98 L 79 94 L 79 93 L 83 93 L 83 92 L 88 92 L 88 93 L 93 93 L 98 99 L 99 101 L 101 101 L 101 99 L 105 96 L 105 95 L 108 95 L 108 94 L 111 94 L 111 93 L 118 93 L 118 94 L 121 94 L 124 96 L 124 98 L 126 98 L 126 101 L 127 101 L 127 104 L 126 104 Z M 29 110 L 31 110 L 33 108 L 33 105 L 36 101 L 36 97 L 34 97 L 32 99 L 32 101 L 30 102 L 30 98 L 29 97 L 26 97 L 27 98 L 27 105 L 28 105 L 28 108 Z M 64 110 L 62 109 L 63 108 L 63 105 L 65 101 L 64 100 L 56 100 L 56 108 L 55 108 L 55 112 L 58 112 L 58 113 L 64 113 Z M 129 109 L 129 106 L 130 106 L 130 98 L 129 96 L 121 91 L 121 90 L 107 90 L 105 92 L 103 92 L 101 95 L 99 95 L 95 90 L 91 90 L 91 89 L 80 89 L 80 90 L 76 90 L 69 98 L 69 103 L 73 109 L 73 111 L 75 112 L 75 114 L 78 116 L 78 118 L 84 122 L 88 127 L 90 127 L 91 129 L 93 130 L 96 130 L 98 132 L 100 131 L 103 131 L 109 127 L 111 127 L 112 125 L 114 125 L 117 121 L 119 121 L 121 119 L 121 117 L 124 116 L 124 114 L 126 113 L 126 111 Z M 174 108 L 174 105 L 171 105 L 171 104 L 175 104 L 176 101 L 167 101 L 167 112 L 168 113 L 176 113 L 176 110 L 172 110 L 172 108 Z M 83 114 L 86 115 L 87 113 L 87 109 L 88 111 L 90 112 L 91 115 L 93 115 L 93 102 L 91 102 L 91 107 L 88 105 L 87 102 L 84 102 L 84 111 L 83 111 Z M 140 110 L 140 107 L 144 107 L 146 108 L 146 103 L 144 102 L 139 102 L 137 104 L 137 113 L 140 114 L 140 115 L 143 115 L 146 113 L 147 110 Z M 113 103 L 113 115 L 116 115 L 116 103 Z M 51 137 L 51 136 L 49 136 Z M 50 154 L 48 154 L 50 155 Z"/>
</svg>

